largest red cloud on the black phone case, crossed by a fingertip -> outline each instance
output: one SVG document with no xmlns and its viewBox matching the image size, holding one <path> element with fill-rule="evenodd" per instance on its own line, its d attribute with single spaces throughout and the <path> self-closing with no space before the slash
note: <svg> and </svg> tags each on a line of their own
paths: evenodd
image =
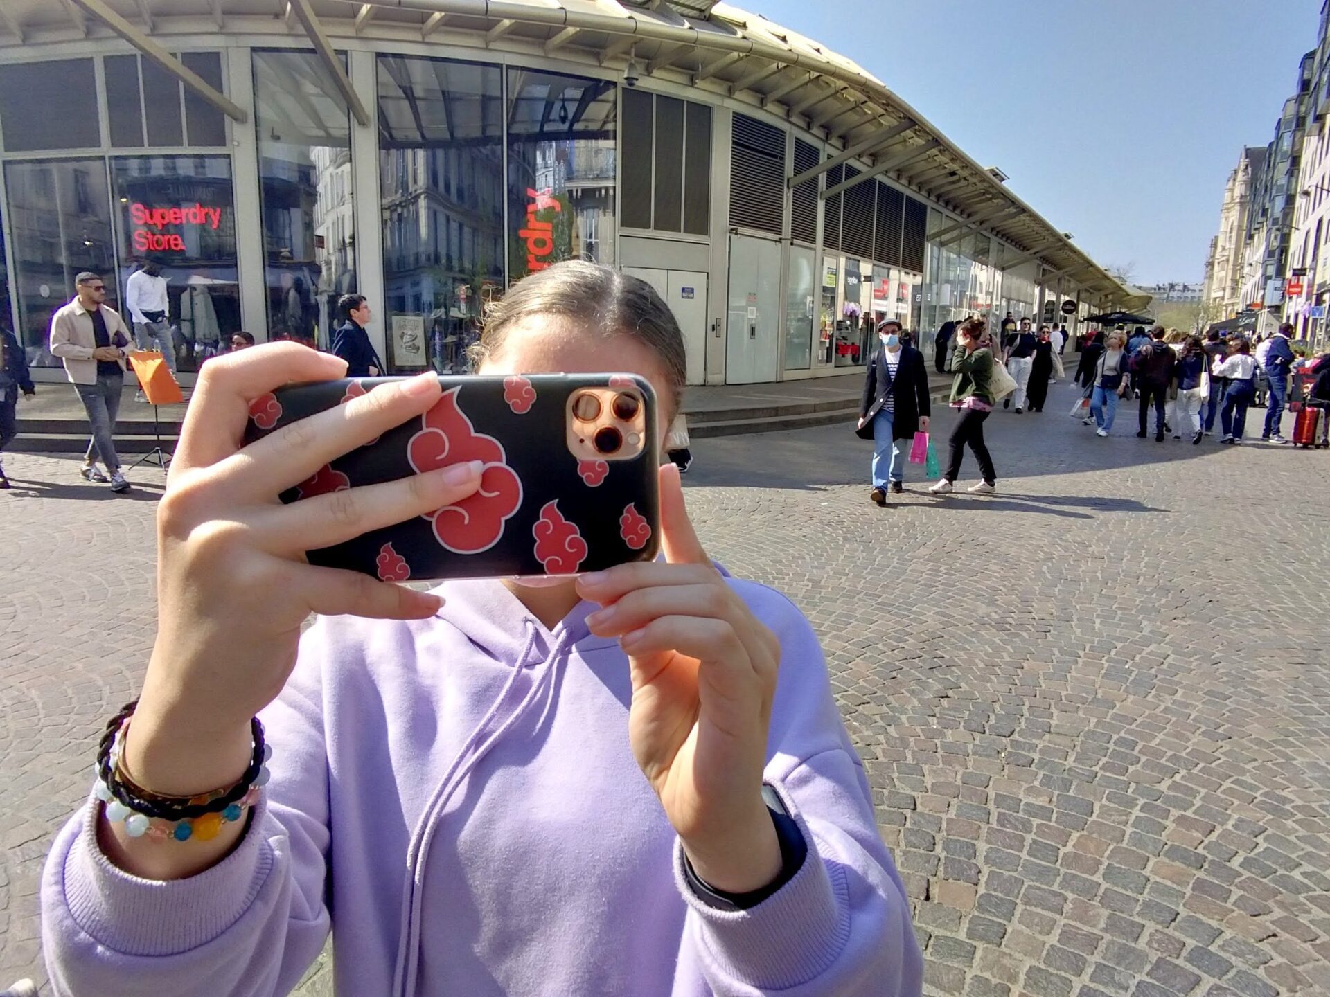
<svg viewBox="0 0 1330 997">
<path fill-rule="evenodd" d="M 480 491 L 424 516 L 434 524 L 434 537 L 440 546 L 455 554 L 479 554 L 499 542 L 508 518 L 521 505 L 521 480 L 508 467 L 503 444 L 493 436 L 477 433 L 462 411 L 460 391 L 446 391 L 438 404 L 420 416 L 422 429 L 407 443 L 407 460 L 416 473 L 468 460 L 484 464 Z"/>
</svg>

